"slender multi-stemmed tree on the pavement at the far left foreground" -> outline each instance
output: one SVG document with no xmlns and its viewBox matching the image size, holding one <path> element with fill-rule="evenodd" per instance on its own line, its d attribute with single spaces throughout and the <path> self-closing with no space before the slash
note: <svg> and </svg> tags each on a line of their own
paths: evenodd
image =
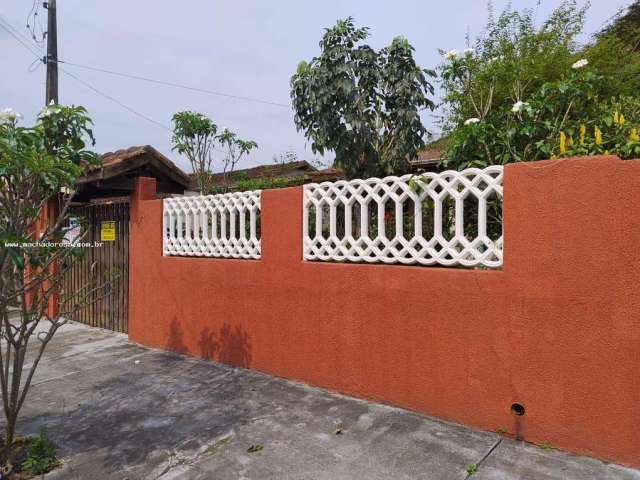
<svg viewBox="0 0 640 480">
<path fill-rule="evenodd" d="M 0 460 L 10 453 L 20 409 L 46 346 L 79 308 L 95 298 L 90 285 L 65 292 L 62 281 L 82 253 L 64 244 L 64 225 L 76 181 L 96 165 L 85 149 L 93 142 L 82 107 L 50 105 L 32 128 L 17 125 L 11 110 L 0 114 L 0 390 L 5 437 Z M 57 215 L 42 225 L 57 202 Z M 82 234 L 78 238 L 82 240 Z M 48 307 L 58 296 L 59 309 Z M 31 363 L 27 347 L 36 341 Z"/>
</svg>

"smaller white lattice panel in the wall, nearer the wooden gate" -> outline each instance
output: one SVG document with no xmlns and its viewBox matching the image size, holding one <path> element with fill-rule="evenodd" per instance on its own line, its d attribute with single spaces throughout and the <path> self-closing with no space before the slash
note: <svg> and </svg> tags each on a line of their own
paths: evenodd
<svg viewBox="0 0 640 480">
<path fill-rule="evenodd" d="M 165 256 L 260 258 L 260 190 L 163 200 Z"/>
</svg>

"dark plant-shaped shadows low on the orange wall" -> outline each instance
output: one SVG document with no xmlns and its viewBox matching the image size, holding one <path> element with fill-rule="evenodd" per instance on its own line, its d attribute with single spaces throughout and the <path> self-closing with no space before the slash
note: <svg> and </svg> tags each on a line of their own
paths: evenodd
<svg viewBox="0 0 640 480">
<path fill-rule="evenodd" d="M 225 323 L 219 332 L 209 327 L 200 332 L 198 351 L 189 351 L 184 343 L 184 329 L 177 317 L 169 325 L 167 349 L 180 354 L 197 354 L 207 360 L 217 360 L 236 367 L 251 366 L 249 334 L 240 326 Z"/>
</svg>

